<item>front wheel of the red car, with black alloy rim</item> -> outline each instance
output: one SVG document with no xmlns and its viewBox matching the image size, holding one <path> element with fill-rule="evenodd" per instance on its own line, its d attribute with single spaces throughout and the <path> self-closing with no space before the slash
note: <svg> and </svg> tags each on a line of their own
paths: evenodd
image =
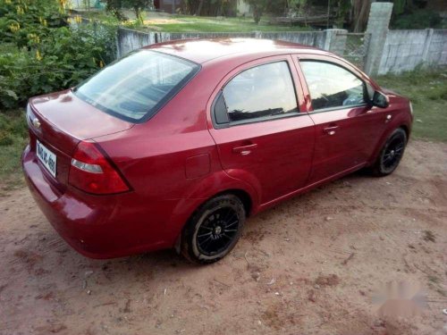
<svg viewBox="0 0 447 335">
<path fill-rule="evenodd" d="M 373 175 L 384 177 L 396 170 L 407 146 L 407 133 L 398 128 L 386 140 L 379 156 L 371 167 Z"/>
</svg>

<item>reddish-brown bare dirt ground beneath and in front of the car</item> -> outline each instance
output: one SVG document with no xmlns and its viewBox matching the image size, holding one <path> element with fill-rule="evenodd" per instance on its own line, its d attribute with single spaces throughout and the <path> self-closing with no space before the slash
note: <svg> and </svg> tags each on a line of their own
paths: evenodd
<svg viewBox="0 0 447 335">
<path fill-rule="evenodd" d="M 413 288 L 403 306 L 418 292 L 421 312 L 382 306 L 388 282 Z M 437 335 L 444 308 L 446 144 L 413 140 L 392 176 L 357 173 L 250 218 L 205 267 L 169 250 L 85 258 L 27 188 L 0 198 L 0 334 Z"/>
</svg>

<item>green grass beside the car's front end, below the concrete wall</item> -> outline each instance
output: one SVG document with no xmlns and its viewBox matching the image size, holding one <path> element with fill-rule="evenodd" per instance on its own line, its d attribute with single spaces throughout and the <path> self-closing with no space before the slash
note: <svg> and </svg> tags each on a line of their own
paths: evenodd
<svg viewBox="0 0 447 335">
<path fill-rule="evenodd" d="M 447 142 L 447 67 L 378 77 L 384 88 L 408 96 L 415 119 L 413 138 Z"/>
</svg>

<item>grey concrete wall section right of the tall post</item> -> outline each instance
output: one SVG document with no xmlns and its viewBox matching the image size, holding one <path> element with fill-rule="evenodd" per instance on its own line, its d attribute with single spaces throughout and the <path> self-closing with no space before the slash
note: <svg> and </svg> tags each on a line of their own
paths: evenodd
<svg viewBox="0 0 447 335">
<path fill-rule="evenodd" d="M 379 74 L 431 65 L 447 65 L 447 29 L 388 31 Z"/>
</svg>

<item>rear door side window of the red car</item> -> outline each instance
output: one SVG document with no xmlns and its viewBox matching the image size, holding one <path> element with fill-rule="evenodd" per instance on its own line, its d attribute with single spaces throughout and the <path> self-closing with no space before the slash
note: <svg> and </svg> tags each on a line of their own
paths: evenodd
<svg viewBox="0 0 447 335">
<path fill-rule="evenodd" d="M 215 103 L 217 124 L 260 121 L 298 113 L 287 62 L 268 63 L 240 72 Z"/>
</svg>

